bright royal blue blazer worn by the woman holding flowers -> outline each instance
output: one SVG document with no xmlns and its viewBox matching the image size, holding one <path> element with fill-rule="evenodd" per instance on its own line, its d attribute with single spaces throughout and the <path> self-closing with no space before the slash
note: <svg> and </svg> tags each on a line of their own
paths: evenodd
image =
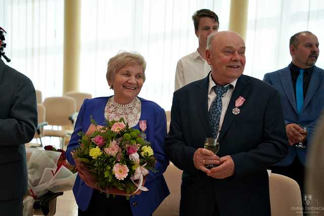
<svg viewBox="0 0 324 216">
<path fill-rule="evenodd" d="M 67 160 L 74 164 L 71 156 L 71 151 L 79 146 L 78 132 L 86 132 L 91 124 L 90 116 L 98 123 L 103 125 L 105 122 L 104 110 L 109 97 L 101 97 L 94 99 L 87 99 L 80 108 L 76 119 L 74 132 L 72 134 L 65 156 Z M 157 172 L 150 172 L 146 177 L 145 187 L 149 191 L 140 195 L 130 197 L 130 205 L 134 216 L 151 215 L 159 204 L 170 194 L 167 183 L 163 177 L 163 173 L 169 165 L 169 159 L 164 152 L 164 139 L 167 134 L 167 122 L 164 109 L 159 107 L 152 101 L 147 101 L 139 98 L 142 104 L 142 111 L 140 120 L 146 120 L 147 128 L 145 134 L 147 141 L 151 143 L 154 151 L 154 156 L 157 159 L 155 169 Z M 134 128 L 140 129 L 139 124 Z M 93 188 L 88 187 L 79 176 L 76 177 L 73 193 L 78 207 L 81 210 L 86 210 L 89 206 Z M 133 205 L 133 203 L 137 205 Z"/>
</svg>

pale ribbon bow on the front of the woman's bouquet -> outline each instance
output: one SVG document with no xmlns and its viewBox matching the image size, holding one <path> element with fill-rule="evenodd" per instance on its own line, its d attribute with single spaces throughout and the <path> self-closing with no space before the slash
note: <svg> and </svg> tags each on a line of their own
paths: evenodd
<svg viewBox="0 0 324 216">
<path fill-rule="evenodd" d="M 137 187 L 136 191 L 134 191 L 133 194 L 135 194 L 138 190 L 148 191 L 146 187 L 142 186 L 144 176 L 146 176 L 149 173 L 148 170 L 144 168 L 146 166 L 146 163 L 140 166 L 140 156 L 138 155 L 138 153 L 130 154 L 129 157 L 130 160 L 134 161 L 137 165 L 137 169 L 135 170 L 134 175 L 130 178 L 134 185 Z M 139 184 L 135 183 L 134 180 L 139 180 Z"/>
</svg>

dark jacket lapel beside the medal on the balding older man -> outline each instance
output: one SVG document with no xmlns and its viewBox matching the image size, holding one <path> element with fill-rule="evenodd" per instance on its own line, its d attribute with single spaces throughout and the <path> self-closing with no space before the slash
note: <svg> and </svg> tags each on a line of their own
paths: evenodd
<svg viewBox="0 0 324 216">
<path fill-rule="evenodd" d="M 234 115 L 232 113 L 232 109 L 235 107 L 236 99 L 239 96 L 247 99 L 247 95 L 249 93 L 249 90 L 250 90 L 249 77 L 246 76 L 246 75 L 241 75 L 240 77 L 238 77 L 236 85 L 235 85 L 235 89 L 233 91 L 232 97 L 231 97 L 231 99 L 229 101 L 229 104 L 228 104 L 228 107 L 227 107 L 227 110 L 226 110 L 226 113 L 225 113 L 225 116 L 224 116 L 221 132 L 220 132 L 220 135 L 219 135 L 219 140 L 221 140 L 225 136 L 225 134 L 228 131 L 229 127 L 233 123 L 233 120 L 237 116 L 237 115 Z M 242 106 L 244 106 L 244 104 Z"/>
</svg>

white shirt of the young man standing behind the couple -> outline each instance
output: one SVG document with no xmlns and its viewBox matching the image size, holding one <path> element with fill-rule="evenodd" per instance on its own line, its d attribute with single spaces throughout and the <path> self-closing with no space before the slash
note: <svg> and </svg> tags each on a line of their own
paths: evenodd
<svg viewBox="0 0 324 216">
<path fill-rule="evenodd" d="M 175 91 L 190 82 L 205 78 L 210 71 L 210 65 L 198 51 L 182 57 L 177 64 Z"/>
</svg>

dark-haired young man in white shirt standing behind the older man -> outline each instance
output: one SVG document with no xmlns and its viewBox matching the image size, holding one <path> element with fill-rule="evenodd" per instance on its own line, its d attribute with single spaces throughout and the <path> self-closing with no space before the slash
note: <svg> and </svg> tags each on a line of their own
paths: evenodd
<svg viewBox="0 0 324 216">
<path fill-rule="evenodd" d="M 192 21 L 199 46 L 195 52 L 182 57 L 178 61 L 175 90 L 192 81 L 206 77 L 211 71 L 211 67 L 206 62 L 205 50 L 207 47 L 207 36 L 212 32 L 218 31 L 218 16 L 211 10 L 201 9 L 192 15 Z"/>
</svg>

